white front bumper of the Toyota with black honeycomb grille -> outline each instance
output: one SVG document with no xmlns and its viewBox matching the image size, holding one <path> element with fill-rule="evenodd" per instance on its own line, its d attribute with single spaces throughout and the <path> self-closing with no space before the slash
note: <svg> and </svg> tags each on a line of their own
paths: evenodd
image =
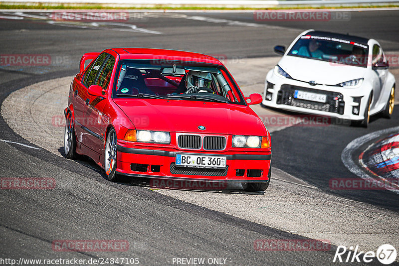
<svg viewBox="0 0 399 266">
<path fill-rule="evenodd" d="M 324 94 L 327 96 L 327 102 L 322 104 L 294 99 L 295 90 Z M 285 79 L 277 77 L 274 73 L 268 73 L 262 104 L 292 112 L 361 121 L 364 119 L 364 110 L 370 92 L 371 88 L 367 88 L 364 84 L 350 89 L 320 84 L 311 86 L 306 82 Z M 354 108 L 358 109 L 358 114 L 353 113 Z"/>
</svg>

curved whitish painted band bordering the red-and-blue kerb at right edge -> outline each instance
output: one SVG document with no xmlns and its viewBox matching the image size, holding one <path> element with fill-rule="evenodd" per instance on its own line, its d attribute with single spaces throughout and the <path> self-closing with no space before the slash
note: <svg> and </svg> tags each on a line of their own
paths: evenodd
<svg viewBox="0 0 399 266">
<path fill-rule="evenodd" d="M 388 134 L 388 133 L 392 133 L 392 132 L 398 132 L 399 131 L 399 126 L 398 127 L 394 127 L 394 128 L 388 128 L 385 130 L 380 130 L 380 131 L 376 131 L 373 133 L 369 133 L 366 135 L 363 135 L 361 137 L 358 137 L 354 140 L 352 140 L 342 151 L 341 153 L 341 160 L 344 163 L 344 165 L 349 169 L 349 171 L 351 171 L 352 173 L 356 174 L 357 176 L 359 176 L 360 178 L 363 178 L 367 181 L 373 182 L 373 181 L 377 181 L 379 184 L 383 183 L 383 178 L 381 176 L 375 176 L 374 178 L 367 174 L 365 172 L 365 170 L 363 170 L 361 167 L 359 167 L 352 159 L 352 153 L 355 151 L 356 148 L 358 148 L 359 146 L 361 146 L 362 144 L 373 140 L 374 138 L 377 138 L 383 134 Z M 381 179 L 378 180 L 377 178 Z M 399 194 L 398 189 L 389 189 L 395 193 Z"/>
</svg>

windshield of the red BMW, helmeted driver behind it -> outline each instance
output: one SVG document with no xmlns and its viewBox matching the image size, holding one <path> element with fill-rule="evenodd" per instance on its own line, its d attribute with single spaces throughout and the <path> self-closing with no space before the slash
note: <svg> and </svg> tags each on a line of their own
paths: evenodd
<svg viewBox="0 0 399 266">
<path fill-rule="evenodd" d="M 222 66 L 193 62 L 121 60 L 113 98 L 173 99 L 245 105 Z"/>
</svg>

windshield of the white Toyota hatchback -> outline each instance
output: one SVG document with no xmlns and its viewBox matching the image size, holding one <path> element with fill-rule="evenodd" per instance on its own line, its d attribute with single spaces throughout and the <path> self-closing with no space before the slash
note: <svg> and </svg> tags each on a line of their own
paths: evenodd
<svg viewBox="0 0 399 266">
<path fill-rule="evenodd" d="M 367 67 L 368 45 L 334 37 L 303 35 L 288 55 Z"/>
</svg>

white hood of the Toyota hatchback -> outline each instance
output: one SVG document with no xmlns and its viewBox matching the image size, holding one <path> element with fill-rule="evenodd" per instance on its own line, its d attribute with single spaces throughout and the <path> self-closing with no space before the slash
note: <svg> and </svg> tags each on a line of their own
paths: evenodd
<svg viewBox="0 0 399 266">
<path fill-rule="evenodd" d="M 278 65 L 293 79 L 317 84 L 337 85 L 339 83 L 363 78 L 367 68 L 349 66 L 316 59 L 284 56 Z"/>
</svg>

